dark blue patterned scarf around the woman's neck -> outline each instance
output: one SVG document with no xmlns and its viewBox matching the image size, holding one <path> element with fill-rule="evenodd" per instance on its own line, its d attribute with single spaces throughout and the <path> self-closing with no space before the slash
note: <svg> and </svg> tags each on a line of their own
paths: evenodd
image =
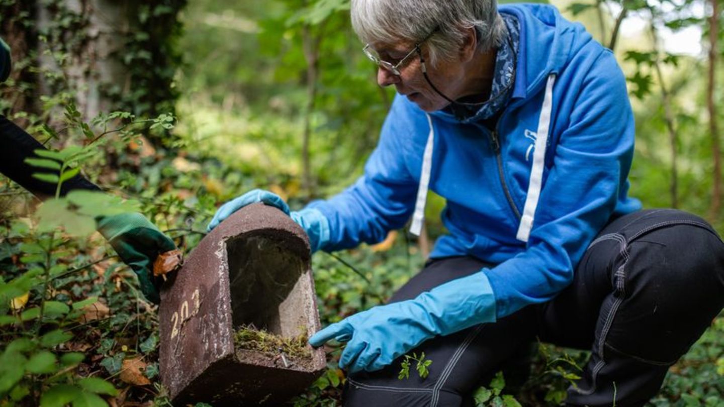
<svg viewBox="0 0 724 407">
<path fill-rule="evenodd" d="M 445 108 L 446 112 L 455 114 L 461 122 L 487 120 L 498 114 L 510 101 L 515 82 L 515 61 L 521 43 L 521 25 L 518 19 L 510 14 L 501 14 L 506 38 L 498 47 L 495 56 L 495 70 L 490 89 L 492 98 L 474 106 L 456 105 Z"/>
</svg>

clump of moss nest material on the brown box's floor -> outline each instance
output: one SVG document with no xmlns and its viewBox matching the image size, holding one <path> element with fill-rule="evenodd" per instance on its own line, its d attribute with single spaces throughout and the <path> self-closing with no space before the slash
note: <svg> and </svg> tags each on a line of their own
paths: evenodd
<svg viewBox="0 0 724 407">
<path fill-rule="evenodd" d="M 239 327 L 234 334 L 234 344 L 238 349 L 248 349 L 277 356 L 283 353 L 290 358 L 311 358 L 307 343 L 306 330 L 295 337 L 281 337 L 271 332 L 257 330 L 253 324 Z"/>
</svg>

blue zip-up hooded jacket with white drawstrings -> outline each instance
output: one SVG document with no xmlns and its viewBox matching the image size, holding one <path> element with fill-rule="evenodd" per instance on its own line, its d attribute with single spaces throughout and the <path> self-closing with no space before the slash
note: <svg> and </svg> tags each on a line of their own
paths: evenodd
<svg viewBox="0 0 724 407">
<path fill-rule="evenodd" d="M 364 175 L 311 206 L 329 220 L 333 251 L 420 218 L 433 190 L 447 201 L 449 233 L 431 257 L 497 264 L 483 272 L 502 318 L 563 290 L 597 232 L 641 204 L 627 196 L 633 113 L 613 53 L 554 7 L 499 11 L 518 18 L 521 46 L 495 131 L 397 95 Z"/>
</svg>

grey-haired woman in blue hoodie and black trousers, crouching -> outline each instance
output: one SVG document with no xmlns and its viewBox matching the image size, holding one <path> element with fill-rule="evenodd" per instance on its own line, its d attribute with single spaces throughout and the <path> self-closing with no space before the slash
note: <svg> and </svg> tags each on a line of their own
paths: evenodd
<svg viewBox="0 0 724 407">
<path fill-rule="evenodd" d="M 419 232 L 433 190 L 447 235 L 390 303 L 311 337 L 347 342 L 345 403 L 471 405 L 537 337 L 591 351 L 569 405 L 643 405 L 722 309 L 724 244 L 628 196 L 633 114 L 613 53 L 547 5 L 353 0 L 351 15 L 398 94 L 364 175 L 290 216 L 335 251 L 410 218 Z M 258 201 L 289 212 L 254 190 L 209 226 Z M 429 377 L 398 380 L 411 351 Z"/>
</svg>

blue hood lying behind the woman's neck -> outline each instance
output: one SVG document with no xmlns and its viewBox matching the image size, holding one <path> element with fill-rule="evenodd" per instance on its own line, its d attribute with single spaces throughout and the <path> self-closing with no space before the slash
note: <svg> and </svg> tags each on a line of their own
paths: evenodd
<svg viewBox="0 0 724 407">
<path fill-rule="evenodd" d="M 548 4 L 506 4 L 500 6 L 498 12 L 513 15 L 521 24 L 511 103 L 536 95 L 545 87 L 549 75 L 563 70 L 578 49 L 592 40 L 583 25 L 563 19 L 560 12 Z M 444 110 L 431 114 L 458 122 Z"/>
</svg>

